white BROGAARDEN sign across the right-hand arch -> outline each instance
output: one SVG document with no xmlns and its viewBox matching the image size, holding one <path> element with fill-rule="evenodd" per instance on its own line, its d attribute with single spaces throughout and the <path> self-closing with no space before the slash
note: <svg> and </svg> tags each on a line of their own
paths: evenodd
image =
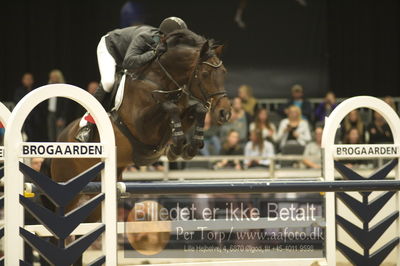
<svg viewBox="0 0 400 266">
<path fill-rule="evenodd" d="M 334 145 L 333 147 L 333 157 L 336 159 L 400 157 L 400 146 L 394 144 Z"/>
</svg>

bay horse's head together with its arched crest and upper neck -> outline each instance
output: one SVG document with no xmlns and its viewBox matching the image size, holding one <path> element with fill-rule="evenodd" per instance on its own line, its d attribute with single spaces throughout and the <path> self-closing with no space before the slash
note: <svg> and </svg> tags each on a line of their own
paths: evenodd
<svg viewBox="0 0 400 266">
<path fill-rule="evenodd" d="M 207 107 L 218 123 L 227 122 L 231 104 L 224 87 L 226 69 L 219 59 L 222 46 L 214 47 L 187 29 L 170 33 L 163 42 L 168 50 L 159 64 L 173 87 L 186 84 L 186 92 Z"/>
</svg>

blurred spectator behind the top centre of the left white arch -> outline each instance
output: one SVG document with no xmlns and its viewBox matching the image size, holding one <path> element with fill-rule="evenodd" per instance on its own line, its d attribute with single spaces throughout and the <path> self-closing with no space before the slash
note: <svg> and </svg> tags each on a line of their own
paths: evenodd
<svg viewBox="0 0 400 266">
<path fill-rule="evenodd" d="M 53 69 L 49 73 L 48 84 L 65 83 L 64 75 L 58 69 Z M 53 97 L 48 100 L 47 132 L 49 141 L 55 141 L 58 134 L 65 127 L 65 98 Z"/>
</svg>

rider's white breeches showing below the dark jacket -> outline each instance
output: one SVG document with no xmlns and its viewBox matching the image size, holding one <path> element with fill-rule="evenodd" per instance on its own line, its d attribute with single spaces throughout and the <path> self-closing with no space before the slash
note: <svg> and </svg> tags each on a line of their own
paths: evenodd
<svg viewBox="0 0 400 266">
<path fill-rule="evenodd" d="M 107 50 L 106 37 L 101 37 L 97 46 L 97 62 L 99 64 L 101 84 L 106 92 L 111 92 L 115 81 L 115 60 Z"/>
</svg>

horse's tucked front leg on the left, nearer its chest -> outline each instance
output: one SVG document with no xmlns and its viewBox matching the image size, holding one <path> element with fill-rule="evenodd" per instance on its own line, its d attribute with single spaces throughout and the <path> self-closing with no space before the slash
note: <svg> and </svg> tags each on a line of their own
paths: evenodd
<svg viewBox="0 0 400 266">
<path fill-rule="evenodd" d="M 179 107 L 173 102 L 163 102 L 162 109 L 167 112 L 171 119 L 172 144 L 167 149 L 167 156 L 170 161 L 177 159 L 182 154 L 185 135 L 182 130 Z"/>
</svg>

